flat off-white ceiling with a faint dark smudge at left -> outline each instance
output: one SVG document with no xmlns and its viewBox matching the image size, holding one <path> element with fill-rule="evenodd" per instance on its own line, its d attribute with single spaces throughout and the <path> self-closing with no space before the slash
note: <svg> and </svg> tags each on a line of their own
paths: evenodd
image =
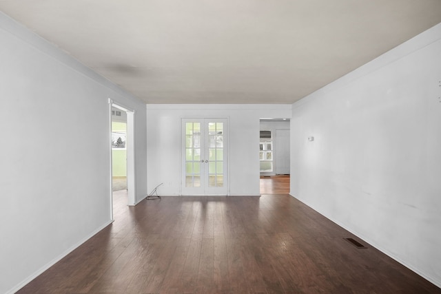
<svg viewBox="0 0 441 294">
<path fill-rule="evenodd" d="M 294 103 L 441 22 L 440 0 L 0 0 L 146 103 Z"/>
</svg>

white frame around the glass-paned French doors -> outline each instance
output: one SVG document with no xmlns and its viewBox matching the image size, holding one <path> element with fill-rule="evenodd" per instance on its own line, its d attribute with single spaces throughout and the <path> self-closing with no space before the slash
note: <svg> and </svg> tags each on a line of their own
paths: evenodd
<svg viewBox="0 0 441 294">
<path fill-rule="evenodd" d="M 224 169 L 224 176 L 227 181 L 227 186 L 225 187 L 226 193 L 220 193 L 220 194 L 205 194 L 204 193 L 204 194 L 192 194 L 192 195 L 183 193 L 183 187 L 185 184 L 185 170 L 183 167 L 183 162 L 185 160 L 185 158 L 183 157 L 183 149 L 185 148 L 185 145 L 184 145 L 185 144 L 184 143 L 185 142 L 185 140 L 184 140 L 185 134 L 183 134 L 183 129 L 184 129 L 184 121 L 189 120 L 189 119 L 194 119 L 194 120 L 222 119 L 222 120 L 225 120 L 226 126 L 224 126 L 224 127 L 225 127 L 226 135 L 227 135 L 227 137 L 225 138 L 226 142 L 224 141 L 225 147 L 227 149 L 226 160 L 225 160 L 227 167 L 226 167 L 226 169 Z M 181 196 L 229 196 L 229 116 L 181 116 L 181 162 L 180 162 L 180 165 L 181 165 L 181 187 L 180 187 Z M 226 171 L 226 175 L 225 175 L 225 171 Z"/>
</svg>

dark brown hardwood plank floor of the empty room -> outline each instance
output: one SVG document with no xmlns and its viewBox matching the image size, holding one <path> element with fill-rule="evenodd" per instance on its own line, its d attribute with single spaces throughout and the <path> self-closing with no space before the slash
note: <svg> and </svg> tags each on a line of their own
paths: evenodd
<svg viewBox="0 0 441 294">
<path fill-rule="evenodd" d="M 115 198 L 113 224 L 18 293 L 441 293 L 288 195 Z"/>
</svg>

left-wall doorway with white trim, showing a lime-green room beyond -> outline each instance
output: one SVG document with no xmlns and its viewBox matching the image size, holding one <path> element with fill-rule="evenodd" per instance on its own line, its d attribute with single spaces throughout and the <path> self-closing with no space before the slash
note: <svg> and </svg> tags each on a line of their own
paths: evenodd
<svg viewBox="0 0 441 294">
<path fill-rule="evenodd" d="M 111 216 L 114 207 L 134 205 L 134 112 L 113 101 L 110 104 Z"/>
</svg>

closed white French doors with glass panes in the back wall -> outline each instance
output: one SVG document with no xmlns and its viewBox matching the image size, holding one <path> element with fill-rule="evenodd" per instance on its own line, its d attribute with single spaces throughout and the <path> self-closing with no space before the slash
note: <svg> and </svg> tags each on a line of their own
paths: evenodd
<svg viewBox="0 0 441 294">
<path fill-rule="evenodd" d="M 182 194 L 227 195 L 227 118 L 182 119 Z"/>
</svg>

